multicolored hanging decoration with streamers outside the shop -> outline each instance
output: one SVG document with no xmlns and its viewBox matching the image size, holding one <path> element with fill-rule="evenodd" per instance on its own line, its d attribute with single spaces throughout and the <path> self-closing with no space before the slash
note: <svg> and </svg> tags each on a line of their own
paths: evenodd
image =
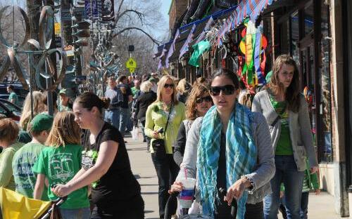
<svg viewBox="0 0 352 219">
<path fill-rule="evenodd" d="M 265 48 L 268 41 L 263 35 L 263 24 L 255 26 L 251 20 L 246 20 L 246 27 L 241 32 L 239 44 L 239 71 L 238 75 L 250 91 L 259 84 L 266 84 L 265 81 Z"/>
</svg>

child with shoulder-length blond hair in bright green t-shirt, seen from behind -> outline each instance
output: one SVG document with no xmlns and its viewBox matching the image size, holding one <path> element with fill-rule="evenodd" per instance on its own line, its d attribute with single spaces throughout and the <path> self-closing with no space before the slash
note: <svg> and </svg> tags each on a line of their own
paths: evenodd
<svg viewBox="0 0 352 219">
<path fill-rule="evenodd" d="M 34 188 L 34 199 L 40 199 L 44 189 L 45 178 L 49 187 L 66 184 L 81 168 L 82 147 L 80 146 L 80 127 L 75 122 L 73 112 L 58 112 L 53 128 L 46 140 L 33 171 L 37 173 L 37 183 Z M 58 197 L 48 190 L 50 200 Z M 89 218 L 89 200 L 87 187 L 82 187 L 68 195 L 68 199 L 60 206 L 63 219 Z"/>
</svg>

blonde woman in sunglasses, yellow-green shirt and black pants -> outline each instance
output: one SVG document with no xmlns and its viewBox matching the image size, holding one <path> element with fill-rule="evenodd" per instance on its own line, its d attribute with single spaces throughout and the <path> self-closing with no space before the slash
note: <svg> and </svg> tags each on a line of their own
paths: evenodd
<svg viewBox="0 0 352 219">
<path fill-rule="evenodd" d="M 165 75 L 158 83 L 156 101 L 146 110 L 144 128 L 146 135 L 152 138 L 150 150 L 158 175 L 160 218 L 164 218 L 170 183 L 175 181 L 180 169 L 172 158 L 172 145 L 184 119 L 184 104 L 176 98 L 175 81 L 171 76 Z"/>
</svg>

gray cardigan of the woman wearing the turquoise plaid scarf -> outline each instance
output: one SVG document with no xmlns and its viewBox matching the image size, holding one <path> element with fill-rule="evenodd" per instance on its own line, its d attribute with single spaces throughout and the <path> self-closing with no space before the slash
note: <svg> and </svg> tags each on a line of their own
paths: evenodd
<svg viewBox="0 0 352 219">
<path fill-rule="evenodd" d="M 197 118 L 189 130 L 184 158 L 177 179 L 184 178 L 184 169 L 187 170 L 187 177 L 196 178 L 197 146 L 202 121 L 203 117 Z M 275 161 L 268 125 L 262 114 L 253 113 L 251 130 L 257 147 L 258 158 L 257 164 L 254 167 L 255 171 L 246 175 L 253 182 L 253 190 L 249 191 L 247 203 L 256 204 L 263 201 L 266 194 L 271 193 L 270 180 L 275 175 Z M 198 201 L 199 198 L 199 192 L 196 192 L 196 199 Z"/>
</svg>

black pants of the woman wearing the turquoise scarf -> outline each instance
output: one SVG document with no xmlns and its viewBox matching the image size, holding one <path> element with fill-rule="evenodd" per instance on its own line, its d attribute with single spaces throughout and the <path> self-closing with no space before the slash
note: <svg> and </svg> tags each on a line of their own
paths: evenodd
<svg viewBox="0 0 352 219">
<path fill-rule="evenodd" d="M 215 219 L 231 219 L 231 206 L 228 206 L 227 201 L 220 197 L 220 204 L 216 209 Z M 257 204 L 246 204 L 245 219 L 263 219 L 263 201 Z"/>
</svg>

